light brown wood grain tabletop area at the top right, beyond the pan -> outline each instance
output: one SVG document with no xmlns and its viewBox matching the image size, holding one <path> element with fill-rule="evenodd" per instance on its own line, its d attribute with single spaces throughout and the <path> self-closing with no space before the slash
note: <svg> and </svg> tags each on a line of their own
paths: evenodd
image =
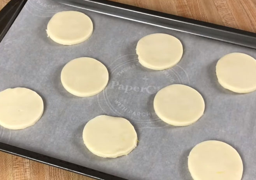
<svg viewBox="0 0 256 180">
<path fill-rule="evenodd" d="M 256 33 L 256 0 L 112 0 Z"/>
</svg>

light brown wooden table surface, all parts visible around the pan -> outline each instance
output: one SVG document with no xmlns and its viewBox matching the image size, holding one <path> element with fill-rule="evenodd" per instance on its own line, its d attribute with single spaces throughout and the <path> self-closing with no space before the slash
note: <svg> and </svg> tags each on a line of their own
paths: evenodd
<svg viewBox="0 0 256 180">
<path fill-rule="evenodd" d="M 113 0 L 256 33 L 256 0 Z M 9 0 L 0 0 L 0 10 Z M 0 152 L 0 180 L 92 180 Z"/>
</svg>

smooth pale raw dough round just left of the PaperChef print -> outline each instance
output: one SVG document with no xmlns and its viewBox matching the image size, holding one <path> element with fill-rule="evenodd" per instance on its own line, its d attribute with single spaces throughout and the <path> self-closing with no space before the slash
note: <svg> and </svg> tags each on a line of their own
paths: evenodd
<svg viewBox="0 0 256 180">
<path fill-rule="evenodd" d="M 79 97 L 94 96 L 105 89 L 109 81 L 107 68 L 93 58 L 77 58 L 68 62 L 61 71 L 61 83 L 71 94 Z"/>
</svg>

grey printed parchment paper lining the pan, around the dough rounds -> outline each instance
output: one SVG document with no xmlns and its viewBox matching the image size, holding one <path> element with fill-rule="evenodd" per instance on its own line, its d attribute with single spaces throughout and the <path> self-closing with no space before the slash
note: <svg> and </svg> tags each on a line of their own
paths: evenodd
<svg viewBox="0 0 256 180">
<path fill-rule="evenodd" d="M 63 46 L 47 38 L 47 22 L 62 10 L 79 10 L 91 17 L 94 31 L 89 40 Z M 181 40 L 184 54 L 178 65 L 153 71 L 138 63 L 137 41 L 151 33 L 168 33 Z M 246 47 L 51 0 L 28 0 L 0 42 L 0 91 L 33 89 L 42 96 L 45 111 L 30 128 L 14 131 L 1 127 L 0 142 L 129 180 L 191 180 L 189 151 L 202 141 L 221 140 L 238 150 L 244 163 L 243 180 L 251 180 L 256 176 L 256 92 L 236 94 L 218 84 L 216 62 L 230 52 L 256 58 L 255 50 Z M 98 59 L 110 74 L 106 89 L 89 98 L 69 94 L 60 82 L 63 66 L 82 56 Z M 156 92 L 176 83 L 195 88 L 205 100 L 205 114 L 191 126 L 167 125 L 154 113 Z M 124 117 L 135 126 L 139 143 L 128 156 L 101 158 L 86 149 L 82 129 L 100 114 Z"/>
</svg>

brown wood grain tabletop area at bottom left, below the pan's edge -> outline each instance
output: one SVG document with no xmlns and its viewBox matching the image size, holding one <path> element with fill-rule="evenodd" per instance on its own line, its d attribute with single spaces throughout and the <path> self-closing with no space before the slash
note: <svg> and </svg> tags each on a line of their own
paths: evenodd
<svg viewBox="0 0 256 180">
<path fill-rule="evenodd" d="M 65 170 L 0 152 L 0 180 L 93 180 Z"/>
</svg>

